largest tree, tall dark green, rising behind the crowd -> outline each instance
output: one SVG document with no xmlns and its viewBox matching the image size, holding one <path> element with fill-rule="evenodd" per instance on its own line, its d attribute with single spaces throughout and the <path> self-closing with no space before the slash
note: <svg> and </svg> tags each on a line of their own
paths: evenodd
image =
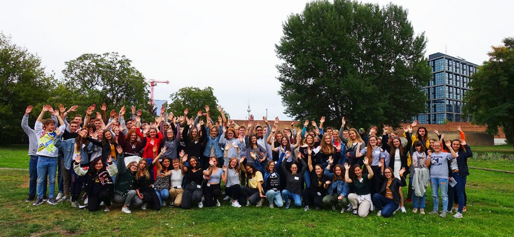
<svg viewBox="0 0 514 237">
<path fill-rule="evenodd" d="M 276 45 L 279 94 L 297 120 L 340 126 L 397 126 L 425 111 L 431 77 L 424 33 L 407 10 L 343 0 L 308 3 L 289 16 Z"/>
</svg>

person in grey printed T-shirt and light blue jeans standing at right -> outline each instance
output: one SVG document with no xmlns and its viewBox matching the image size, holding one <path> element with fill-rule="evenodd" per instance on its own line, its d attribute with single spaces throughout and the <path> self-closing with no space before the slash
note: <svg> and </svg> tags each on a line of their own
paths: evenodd
<svg viewBox="0 0 514 237">
<path fill-rule="evenodd" d="M 447 147 L 450 147 L 451 142 L 446 141 Z M 441 192 L 441 199 L 443 199 L 443 211 L 439 214 L 440 217 L 446 217 L 448 209 L 448 177 L 450 169 L 450 161 L 457 157 L 453 149 L 450 153 L 442 152 L 441 142 L 434 142 L 434 151 L 427 159 L 427 167 L 430 166 L 430 184 L 432 186 L 432 202 L 434 209 L 429 214 L 437 214 L 439 208 L 438 192 Z"/>
</svg>

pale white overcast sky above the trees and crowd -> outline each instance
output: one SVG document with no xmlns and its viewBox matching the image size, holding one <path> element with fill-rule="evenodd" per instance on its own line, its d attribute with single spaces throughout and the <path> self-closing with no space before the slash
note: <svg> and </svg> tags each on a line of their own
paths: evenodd
<svg viewBox="0 0 514 237">
<path fill-rule="evenodd" d="M 185 86 L 214 88 L 232 118 L 284 114 L 274 45 L 282 23 L 310 1 L 3 1 L 0 30 L 61 77 L 82 53 L 119 52 L 158 84 L 155 99 Z M 391 1 L 363 1 L 381 6 Z M 392 1 L 409 10 L 428 54 L 482 64 L 514 37 L 514 1 Z M 234 91 L 235 90 L 235 91 Z M 238 95 L 237 97 L 234 95 Z"/>
</svg>

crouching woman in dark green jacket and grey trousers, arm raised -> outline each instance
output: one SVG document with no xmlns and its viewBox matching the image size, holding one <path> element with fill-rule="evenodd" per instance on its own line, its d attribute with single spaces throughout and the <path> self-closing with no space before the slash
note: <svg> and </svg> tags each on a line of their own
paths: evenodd
<svg viewBox="0 0 514 237">
<path fill-rule="evenodd" d="M 136 181 L 137 162 L 132 161 L 125 166 L 123 162 L 123 149 L 118 145 L 116 147 L 118 151 L 118 178 L 116 179 L 116 189 L 114 191 L 114 201 L 116 203 L 122 203 L 123 207 L 121 211 L 123 213 L 131 213 L 128 209 L 133 203 L 135 205 L 142 205 L 143 200 L 137 196 L 136 190 L 134 190 L 134 182 Z"/>
</svg>

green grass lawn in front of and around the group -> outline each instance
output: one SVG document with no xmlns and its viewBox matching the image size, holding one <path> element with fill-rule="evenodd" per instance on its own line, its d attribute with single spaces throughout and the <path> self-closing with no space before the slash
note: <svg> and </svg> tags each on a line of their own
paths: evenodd
<svg viewBox="0 0 514 237">
<path fill-rule="evenodd" d="M 514 154 L 511 154 L 514 155 Z M 514 170 L 510 160 L 470 160 L 470 166 Z M 1 168 L 28 168 L 26 146 L 0 147 Z M 34 207 L 26 203 L 28 171 L 0 170 L 0 235 L 173 235 L 173 236 L 507 236 L 514 234 L 514 174 L 470 170 L 467 180 L 468 206 L 464 218 L 441 218 L 428 215 L 432 210 L 430 188 L 427 192 L 427 215 L 396 213 L 392 218 L 366 218 L 350 213 L 339 214 L 325 208 L 321 211 L 292 208 L 284 210 L 263 207 L 222 207 L 182 210 L 163 207 L 160 211 L 139 210 L 132 214 L 112 211 L 90 213 L 73 209 L 70 203 Z M 404 188 L 403 192 L 406 193 Z M 439 208 L 440 209 L 440 208 Z"/>
</svg>

